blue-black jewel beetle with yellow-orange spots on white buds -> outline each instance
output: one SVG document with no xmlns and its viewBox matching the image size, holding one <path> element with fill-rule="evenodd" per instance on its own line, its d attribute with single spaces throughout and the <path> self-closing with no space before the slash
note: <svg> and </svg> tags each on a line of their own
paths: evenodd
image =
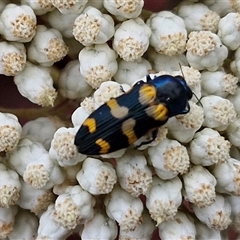
<svg viewBox="0 0 240 240">
<path fill-rule="evenodd" d="M 75 136 L 80 153 L 100 155 L 127 148 L 152 130 L 149 143 L 170 117 L 189 112 L 193 93 L 183 77 L 147 75 L 146 79 L 90 114 Z"/>
</svg>

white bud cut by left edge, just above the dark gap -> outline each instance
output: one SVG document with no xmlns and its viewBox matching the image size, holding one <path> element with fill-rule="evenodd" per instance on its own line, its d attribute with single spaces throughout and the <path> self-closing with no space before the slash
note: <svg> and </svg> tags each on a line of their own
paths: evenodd
<svg viewBox="0 0 240 240">
<path fill-rule="evenodd" d="M 26 64 L 26 50 L 19 42 L 0 42 L 0 74 L 15 76 Z"/>
</svg>

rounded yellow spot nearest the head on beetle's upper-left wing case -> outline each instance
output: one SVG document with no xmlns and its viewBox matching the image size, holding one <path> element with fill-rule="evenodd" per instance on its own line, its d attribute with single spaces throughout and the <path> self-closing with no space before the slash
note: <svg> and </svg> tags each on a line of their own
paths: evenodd
<svg viewBox="0 0 240 240">
<path fill-rule="evenodd" d="M 152 85 L 145 84 L 139 90 L 139 102 L 143 104 L 150 104 L 156 98 L 156 88 Z"/>
</svg>

